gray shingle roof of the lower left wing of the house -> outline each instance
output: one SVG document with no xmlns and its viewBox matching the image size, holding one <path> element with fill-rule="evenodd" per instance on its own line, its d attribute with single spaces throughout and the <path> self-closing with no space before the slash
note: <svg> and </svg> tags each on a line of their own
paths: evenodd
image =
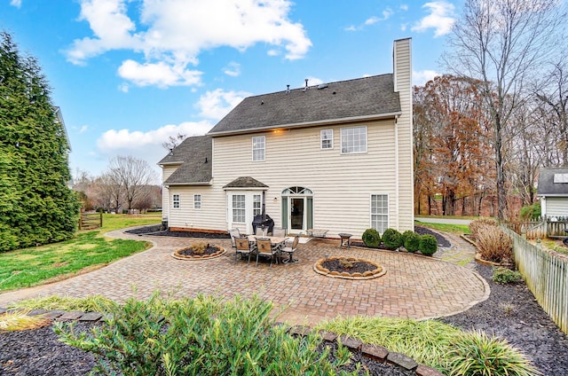
<svg viewBox="0 0 568 376">
<path fill-rule="evenodd" d="M 185 138 L 172 155 L 168 154 L 158 162 L 159 165 L 181 163 L 163 184 L 210 184 L 212 144 L 212 138 L 207 136 Z"/>
</svg>

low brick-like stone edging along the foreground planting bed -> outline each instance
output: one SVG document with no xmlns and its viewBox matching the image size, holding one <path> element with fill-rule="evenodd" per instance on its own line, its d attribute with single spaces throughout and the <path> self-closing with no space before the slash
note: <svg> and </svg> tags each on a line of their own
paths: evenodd
<svg viewBox="0 0 568 376">
<path fill-rule="evenodd" d="M 13 312 L 20 309 L 3 309 L 0 308 L 0 315 L 4 312 Z M 104 318 L 104 315 L 100 312 L 83 312 L 79 310 L 66 311 L 66 310 L 46 310 L 46 309 L 32 309 L 28 312 L 28 316 L 43 315 L 44 317 L 50 318 L 51 320 L 57 321 L 81 321 L 81 322 L 91 322 L 96 323 Z M 284 325 L 281 323 L 275 323 L 275 325 Z M 306 336 L 312 332 L 312 328 L 304 325 L 291 326 L 286 331 L 290 335 L 295 337 Z M 343 346 L 350 349 L 351 352 L 360 352 L 361 356 L 374 359 L 379 362 L 394 364 L 406 371 L 414 371 L 416 376 L 444 376 L 444 373 L 439 372 L 437 369 L 429 367 L 424 364 L 418 364 L 410 356 L 405 354 L 390 351 L 389 349 L 383 348 L 383 346 L 363 343 L 357 338 L 338 335 L 332 332 L 322 332 L 320 333 L 323 341 L 327 342 L 341 342 Z"/>
</svg>

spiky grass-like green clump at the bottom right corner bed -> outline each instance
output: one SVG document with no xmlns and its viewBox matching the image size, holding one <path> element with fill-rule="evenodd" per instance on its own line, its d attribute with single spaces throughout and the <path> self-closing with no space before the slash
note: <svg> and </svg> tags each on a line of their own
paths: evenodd
<svg viewBox="0 0 568 376">
<path fill-rule="evenodd" d="M 463 333 L 454 341 L 448 357 L 450 375 L 540 374 L 528 358 L 507 341 L 489 338 L 484 332 Z"/>
</svg>

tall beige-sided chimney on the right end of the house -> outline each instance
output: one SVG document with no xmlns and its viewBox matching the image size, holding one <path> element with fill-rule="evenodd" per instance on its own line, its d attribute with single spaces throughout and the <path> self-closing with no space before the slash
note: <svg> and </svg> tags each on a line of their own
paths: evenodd
<svg viewBox="0 0 568 376">
<path fill-rule="evenodd" d="M 395 90 L 398 90 L 402 114 L 398 129 L 398 223 L 400 231 L 414 230 L 414 165 L 412 134 L 412 49 L 411 40 L 394 44 Z M 394 223 L 393 223 L 394 224 Z"/>
</svg>

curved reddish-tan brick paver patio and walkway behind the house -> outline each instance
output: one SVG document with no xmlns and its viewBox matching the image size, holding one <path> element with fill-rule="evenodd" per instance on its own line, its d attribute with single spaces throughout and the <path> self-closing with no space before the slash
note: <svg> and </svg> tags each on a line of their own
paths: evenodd
<svg viewBox="0 0 568 376">
<path fill-rule="evenodd" d="M 463 245 L 438 251 L 434 258 L 392 251 L 351 247 L 339 249 L 339 240 L 312 240 L 296 252 L 300 262 L 269 267 L 268 263 L 234 263 L 228 239 L 213 243 L 227 253 L 207 261 L 180 261 L 171 253 L 192 240 L 165 237 L 140 237 L 112 231 L 107 236 L 148 240 L 154 247 L 138 255 L 114 262 L 50 285 L 0 294 L 0 307 L 10 302 L 59 294 L 86 297 L 101 294 L 123 302 L 130 296 L 146 299 L 156 289 L 175 297 L 197 294 L 259 294 L 284 309 L 278 319 L 290 325 L 315 325 L 321 319 L 342 315 L 426 318 L 441 317 L 469 309 L 489 296 L 485 280 L 473 270 L 437 257 L 448 252 L 471 257 Z M 459 238 L 458 238 L 459 239 Z M 452 239 L 452 241 L 457 241 Z M 439 255 L 438 255 L 439 254 Z M 351 255 L 380 263 L 387 270 L 381 278 L 345 280 L 315 273 L 313 264 L 324 255 Z M 463 262 L 458 262 L 464 264 Z"/>
</svg>

